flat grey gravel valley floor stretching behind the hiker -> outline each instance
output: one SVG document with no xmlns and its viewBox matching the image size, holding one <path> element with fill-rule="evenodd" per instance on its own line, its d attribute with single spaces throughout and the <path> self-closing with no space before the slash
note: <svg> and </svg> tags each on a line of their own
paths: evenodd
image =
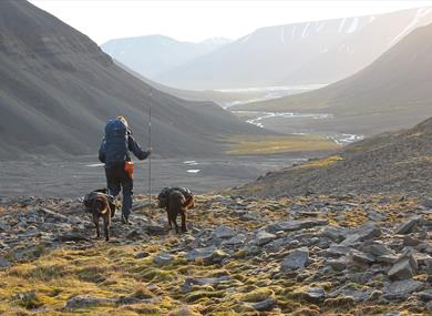
<svg viewBox="0 0 432 316">
<path fill-rule="evenodd" d="M 313 154 L 317 155 L 317 154 Z M 164 186 L 187 186 L 196 193 L 233 187 L 258 176 L 310 157 L 305 154 L 223 156 L 214 159 L 153 159 L 152 191 Z M 0 197 L 35 195 L 52 197 L 84 196 L 105 186 L 105 172 L 95 156 L 74 160 L 0 161 Z M 135 194 L 148 192 L 148 161 L 136 162 Z"/>
</svg>

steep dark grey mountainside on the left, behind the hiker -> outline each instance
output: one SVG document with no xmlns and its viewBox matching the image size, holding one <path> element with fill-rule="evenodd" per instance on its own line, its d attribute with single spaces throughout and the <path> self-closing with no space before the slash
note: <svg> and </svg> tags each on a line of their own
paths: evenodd
<svg viewBox="0 0 432 316">
<path fill-rule="evenodd" d="M 151 104 L 156 154 L 215 155 L 223 137 L 263 133 L 214 103 L 150 93 L 84 34 L 27 1 L 0 1 L 1 159 L 95 155 L 119 114 L 145 146 Z"/>
</svg>

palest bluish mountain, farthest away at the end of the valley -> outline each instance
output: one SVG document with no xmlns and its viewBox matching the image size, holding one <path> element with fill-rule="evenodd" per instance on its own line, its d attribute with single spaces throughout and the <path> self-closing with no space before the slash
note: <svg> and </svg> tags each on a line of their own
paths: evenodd
<svg viewBox="0 0 432 316">
<path fill-rule="evenodd" d="M 147 78 L 155 78 L 227 43 L 224 38 L 203 42 L 181 42 L 164 35 L 147 35 L 111 40 L 102 50 L 113 59 Z"/>
</svg>

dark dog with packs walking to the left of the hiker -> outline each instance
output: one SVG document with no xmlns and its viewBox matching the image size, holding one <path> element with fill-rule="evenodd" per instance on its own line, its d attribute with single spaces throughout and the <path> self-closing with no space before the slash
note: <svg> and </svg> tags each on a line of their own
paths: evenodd
<svg viewBox="0 0 432 316">
<path fill-rule="evenodd" d="M 96 237 L 101 237 L 99 227 L 100 218 L 103 220 L 103 227 L 105 232 L 105 241 L 110 241 L 111 218 L 115 214 L 115 204 L 113 197 L 107 194 L 106 190 L 96 190 L 84 197 L 85 212 L 92 214 L 93 223 L 96 228 Z"/>
</svg>

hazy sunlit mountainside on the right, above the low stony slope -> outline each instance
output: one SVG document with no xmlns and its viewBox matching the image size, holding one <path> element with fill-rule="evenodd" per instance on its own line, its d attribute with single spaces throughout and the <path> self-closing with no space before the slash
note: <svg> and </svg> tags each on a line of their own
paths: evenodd
<svg viewBox="0 0 432 316">
<path fill-rule="evenodd" d="M 432 116 L 432 24 L 419 28 L 364 70 L 322 89 L 236 110 L 331 113 L 317 122 L 371 135 Z"/>
</svg>

